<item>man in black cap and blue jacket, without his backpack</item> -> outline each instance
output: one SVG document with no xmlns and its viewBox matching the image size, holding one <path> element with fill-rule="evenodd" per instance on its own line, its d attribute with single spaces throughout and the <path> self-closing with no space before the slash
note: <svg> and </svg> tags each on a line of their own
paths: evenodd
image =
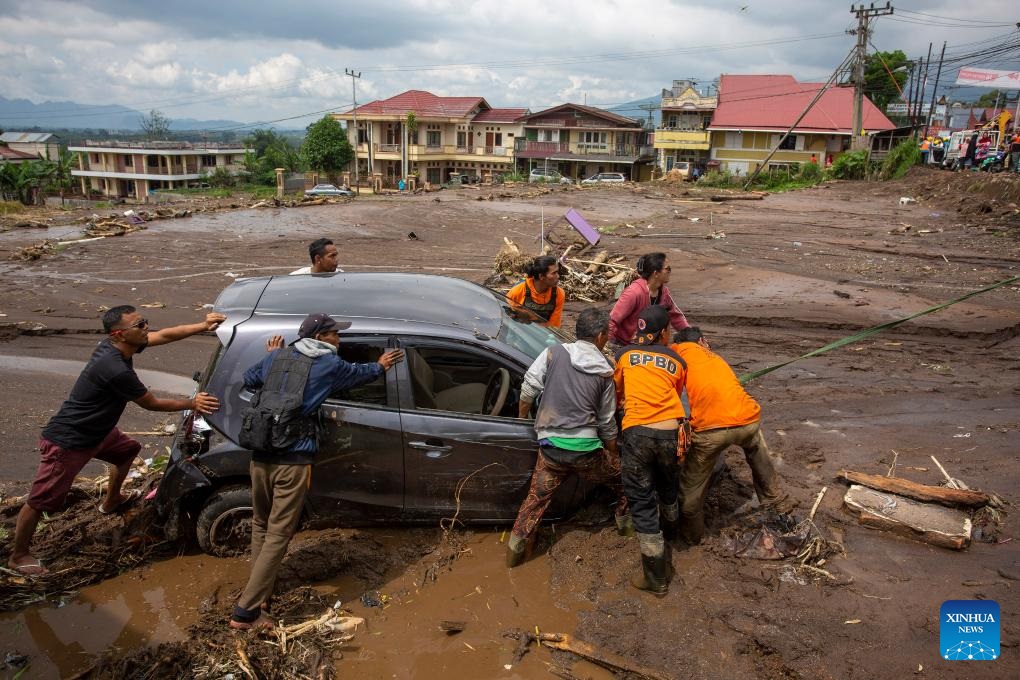
<svg viewBox="0 0 1020 680">
<path fill-rule="evenodd" d="M 248 585 L 234 608 L 231 627 L 239 630 L 270 628 L 272 621 L 262 616 L 262 607 L 272 595 L 276 572 L 301 519 L 305 493 L 311 485 L 311 467 L 318 451 L 316 436 L 318 408 L 329 395 L 363 385 L 377 379 L 404 358 L 400 350 L 390 350 L 378 362 L 351 364 L 337 356 L 338 331 L 351 327 L 349 321 L 336 321 L 327 314 L 309 314 L 301 322 L 298 339 L 284 347 L 279 335 L 266 343 L 269 354 L 245 371 L 245 387 L 253 390 L 286 391 L 288 380 L 302 379 L 302 364 L 307 379 L 301 404 L 301 436 L 283 452 L 253 451 L 252 477 L 252 572 Z M 274 365 L 275 364 L 275 370 Z M 284 366 L 285 372 L 280 372 Z M 290 370 L 294 366 L 295 370 Z"/>
</svg>

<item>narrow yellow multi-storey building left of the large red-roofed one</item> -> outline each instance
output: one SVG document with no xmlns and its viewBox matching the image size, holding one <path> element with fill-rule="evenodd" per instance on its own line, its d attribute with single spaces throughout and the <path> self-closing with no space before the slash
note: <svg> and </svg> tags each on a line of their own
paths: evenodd
<svg viewBox="0 0 1020 680">
<path fill-rule="evenodd" d="M 708 132 L 717 98 L 700 93 L 693 81 L 673 81 L 662 91 L 662 122 L 655 130 L 656 165 L 669 172 L 673 164 L 686 161 L 704 169 L 709 160 Z"/>
</svg>

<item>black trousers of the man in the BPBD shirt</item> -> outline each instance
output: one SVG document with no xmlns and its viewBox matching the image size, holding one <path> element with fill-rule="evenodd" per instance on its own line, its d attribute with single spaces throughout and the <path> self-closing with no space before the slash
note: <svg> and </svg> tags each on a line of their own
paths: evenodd
<svg viewBox="0 0 1020 680">
<path fill-rule="evenodd" d="M 659 533 L 659 506 L 675 506 L 676 430 L 628 427 L 620 436 L 623 491 L 639 534 Z"/>
</svg>

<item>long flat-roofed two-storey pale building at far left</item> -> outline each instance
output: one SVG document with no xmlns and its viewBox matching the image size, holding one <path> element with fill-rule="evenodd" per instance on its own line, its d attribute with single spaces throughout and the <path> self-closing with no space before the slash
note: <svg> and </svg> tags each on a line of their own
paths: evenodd
<svg viewBox="0 0 1020 680">
<path fill-rule="evenodd" d="M 82 192 L 145 202 L 158 189 L 181 189 L 203 180 L 217 169 L 232 174 L 244 167 L 245 149 L 213 142 L 93 142 L 78 152 Z"/>
</svg>

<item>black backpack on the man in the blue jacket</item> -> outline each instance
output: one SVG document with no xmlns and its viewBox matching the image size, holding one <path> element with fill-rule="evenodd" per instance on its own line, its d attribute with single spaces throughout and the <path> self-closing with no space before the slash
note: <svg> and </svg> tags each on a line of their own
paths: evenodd
<svg viewBox="0 0 1020 680">
<path fill-rule="evenodd" d="M 273 357 L 269 375 L 241 410 L 238 442 L 249 451 L 284 453 L 298 440 L 318 435 L 316 415 L 302 416 L 305 385 L 313 360 L 303 354 L 280 351 Z"/>
</svg>

